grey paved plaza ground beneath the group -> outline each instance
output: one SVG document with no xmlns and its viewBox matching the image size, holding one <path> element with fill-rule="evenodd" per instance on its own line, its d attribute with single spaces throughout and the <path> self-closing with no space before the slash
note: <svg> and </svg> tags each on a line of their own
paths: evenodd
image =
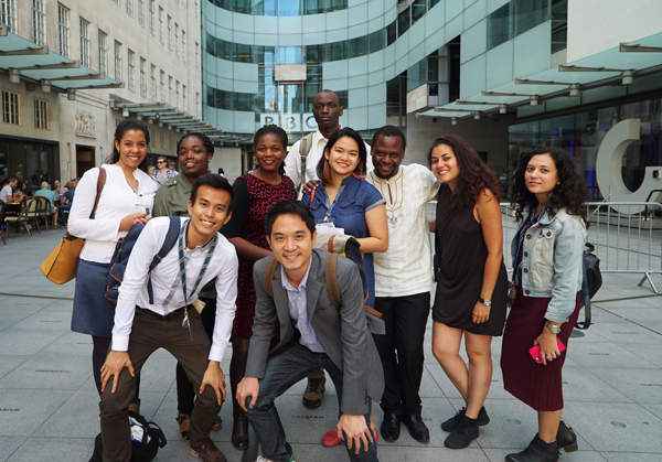
<svg viewBox="0 0 662 462">
<path fill-rule="evenodd" d="M 64 232 L 42 230 L 32 238 L 12 232 L 0 245 L 0 461 L 86 462 L 99 432 L 98 396 L 92 377 L 92 342 L 70 331 L 74 282 L 55 286 L 40 271 L 45 256 Z M 659 244 L 658 244 L 659 245 Z M 606 275 L 594 300 L 594 322 L 573 337 L 564 368 L 564 419 L 579 436 L 579 451 L 565 462 L 662 461 L 662 297 L 650 286 L 637 287 L 640 275 Z M 653 276 L 658 289 L 662 277 Z M 499 357 L 492 344 L 494 373 L 485 408 L 491 418 L 468 449 L 444 447 L 439 423 L 463 402 L 431 355 L 431 320 L 425 339 L 423 417 L 430 442 L 414 441 L 403 426 L 395 443 L 380 441 L 382 462 L 503 461 L 526 447 L 536 431 L 535 412 L 503 390 Z M 231 347 L 223 362 L 228 369 Z M 161 426 L 168 445 L 157 461 L 196 460 L 179 437 L 174 417 L 172 356 L 157 352 L 146 364 L 141 412 Z M 349 460 L 343 447 L 319 441 L 337 423 L 338 401 L 328 388 L 322 406 L 301 405 L 300 383 L 277 400 L 288 440 L 299 462 Z M 382 411 L 375 407 L 375 422 Z M 254 461 L 229 443 L 232 406 L 221 412 L 224 428 L 212 438 L 231 462 Z"/>
</svg>

